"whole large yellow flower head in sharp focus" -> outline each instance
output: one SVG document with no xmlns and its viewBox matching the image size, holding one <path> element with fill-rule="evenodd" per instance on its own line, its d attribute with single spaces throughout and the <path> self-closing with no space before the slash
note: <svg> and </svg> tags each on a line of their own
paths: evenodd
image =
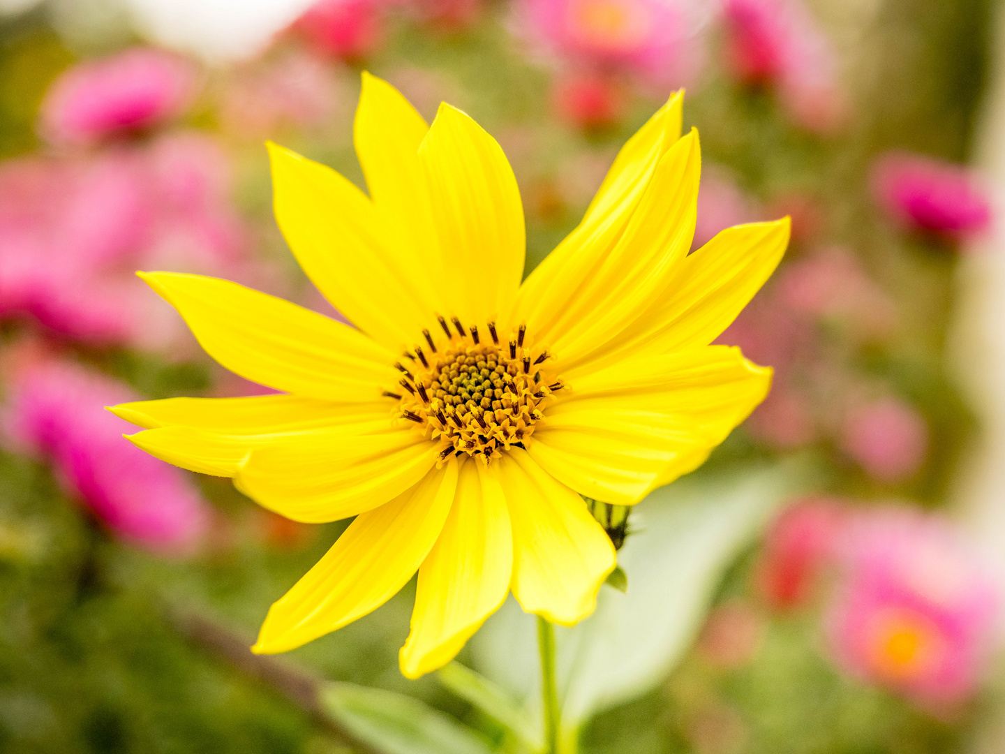
<svg viewBox="0 0 1005 754">
<path fill-rule="evenodd" d="M 697 466 L 771 370 L 709 345 L 777 265 L 788 220 L 688 254 L 697 134 L 681 95 L 621 150 L 580 225 L 521 285 L 525 231 L 495 141 L 442 105 L 431 127 L 364 74 L 368 197 L 269 145 L 275 216 L 359 329 L 226 280 L 142 273 L 220 364 L 282 391 L 127 403 L 130 439 L 295 521 L 356 519 L 272 605 L 253 649 L 366 615 L 418 571 L 401 669 L 447 663 L 512 591 L 588 615 L 615 553 L 581 496 L 632 505 Z"/>
</svg>

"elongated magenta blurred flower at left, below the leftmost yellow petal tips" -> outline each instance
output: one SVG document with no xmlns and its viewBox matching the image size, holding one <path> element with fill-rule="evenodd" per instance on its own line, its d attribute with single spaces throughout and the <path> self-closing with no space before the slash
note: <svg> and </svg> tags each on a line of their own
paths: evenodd
<svg viewBox="0 0 1005 754">
<path fill-rule="evenodd" d="M 134 431 L 105 410 L 129 388 L 81 367 L 29 363 L 12 380 L 4 425 L 17 447 L 51 460 L 67 493 L 123 539 L 165 553 L 192 551 L 209 511 L 173 466 L 128 442 Z"/>
</svg>

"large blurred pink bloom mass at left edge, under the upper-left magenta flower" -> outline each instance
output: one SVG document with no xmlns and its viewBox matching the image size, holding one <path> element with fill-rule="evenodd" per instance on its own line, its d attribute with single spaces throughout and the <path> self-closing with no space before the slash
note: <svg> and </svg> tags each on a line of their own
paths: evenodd
<svg viewBox="0 0 1005 754">
<path fill-rule="evenodd" d="M 134 272 L 233 270 L 246 231 L 227 173 L 211 139 L 184 133 L 86 160 L 3 164 L 0 318 L 29 315 L 91 345 L 171 341 L 180 324 Z"/>
</svg>

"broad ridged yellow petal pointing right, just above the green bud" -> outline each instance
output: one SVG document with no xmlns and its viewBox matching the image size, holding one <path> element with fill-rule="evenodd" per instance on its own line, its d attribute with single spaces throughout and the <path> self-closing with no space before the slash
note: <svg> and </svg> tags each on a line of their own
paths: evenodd
<svg viewBox="0 0 1005 754">
<path fill-rule="evenodd" d="M 567 376 L 527 446 L 581 495 L 633 505 L 691 470 L 768 394 L 771 370 L 737 348 L 628 358 Z"/>
</svg>

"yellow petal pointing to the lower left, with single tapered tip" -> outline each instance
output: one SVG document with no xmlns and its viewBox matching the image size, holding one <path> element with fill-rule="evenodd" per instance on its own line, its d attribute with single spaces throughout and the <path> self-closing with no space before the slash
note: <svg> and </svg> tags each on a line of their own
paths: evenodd
<svg viewBox="0 0 1005 754">
<path fill-rule="evenodd" d="M 457 463 L 451 459 L 390 503 L 360 514 L 325 557 L 272 604 L 251 650 L 293 649 L 393 597 L 436 542 L 456 486 Z"/>
</svg>

